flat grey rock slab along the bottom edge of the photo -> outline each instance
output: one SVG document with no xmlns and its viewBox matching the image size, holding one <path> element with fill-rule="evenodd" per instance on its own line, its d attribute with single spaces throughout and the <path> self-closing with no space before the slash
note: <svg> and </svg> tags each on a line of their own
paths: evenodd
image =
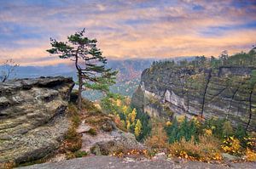
<svg viewBox="0 0 256 169">
<path fill-rule="evenodd" d="M 246 163 L 232 163 L 229 166 L 221 164 L 208 164 L 197 161 L 171 161 L 171 160 L 145 160 L 145 161 L 131 161 L 127 159 L 116 158 L 113 156 L 90 156 L 84 158 L 77 158 L 69 161 L 61 161 L 57 163 L 44 163 L 33 166 L 20 167 L 20 169 L 167 169 L 167 168 L 243 168 L 254 169 L 256 168 L 255 162 Z"/>
</svg>

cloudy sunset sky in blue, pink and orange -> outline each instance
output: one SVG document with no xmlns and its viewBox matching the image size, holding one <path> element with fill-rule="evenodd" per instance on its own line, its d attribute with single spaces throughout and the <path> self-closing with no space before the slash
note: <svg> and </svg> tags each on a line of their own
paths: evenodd
<svg viewBox="0 0 256 169">
<path fill-rule="evenodd" d="M 236 54 L 256 44 L 256 0 L 0 0 L 0 63 L 65 63 L 49 38 L 83 28 L 108 59 Z"/>
</svg>

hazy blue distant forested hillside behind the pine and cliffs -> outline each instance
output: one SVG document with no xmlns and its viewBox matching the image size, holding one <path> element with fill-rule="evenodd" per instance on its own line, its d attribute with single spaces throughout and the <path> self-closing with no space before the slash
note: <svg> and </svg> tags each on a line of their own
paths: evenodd
<svg viewBox="0 0 256 169">
<path fill-rule="evenodd" d="M 191 60 L 194 57 L 177 57 L 172 58 L 175 61 L 181 59 Z M 172 60 L 165 59 L 165 60 Z M 125 96 L 130 96 L 134 93 L 140 82 L 143 70 L 147 69 L 152 63 L 159 59 L 108 59 L 108 67 L 113 70 L 119 70 L 117 83 L 111 87 L 113 93 L 120 93 Z M 4 69 L 0 65 L 0 72 Z M 15 70 L 13 78 L 32 78 L 39 76 L 72 76 L 74 81 L 77 81 L 76 70 L 73 65 L 49 65 L 49 66 L 19 66 Z M 83 93 L 84 97 L 91 100 L 101 98 L 101 94 L 96 91 L 87 91 Z"/>
</svg>

